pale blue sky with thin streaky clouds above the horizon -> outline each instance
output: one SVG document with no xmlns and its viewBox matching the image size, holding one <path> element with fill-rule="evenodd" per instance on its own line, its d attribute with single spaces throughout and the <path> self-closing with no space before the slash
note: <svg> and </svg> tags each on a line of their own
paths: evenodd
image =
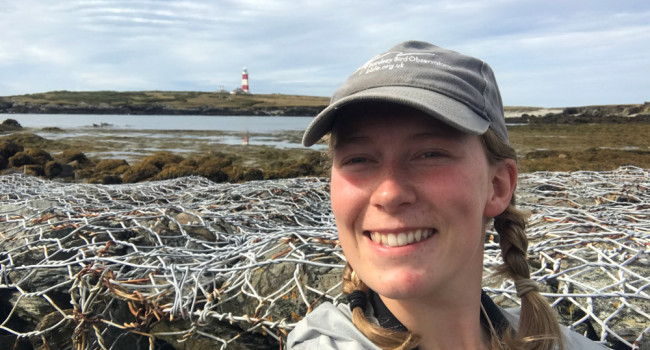
<svg viewBox="0 0 650 350">
<path fill-rule="evenodd" d="M 423 40 L 492 66 L 506 106 L 650 101 L 650 1 L 0 0 L 0 96 L 217 91 L 331 96 Z"/>
</svg>

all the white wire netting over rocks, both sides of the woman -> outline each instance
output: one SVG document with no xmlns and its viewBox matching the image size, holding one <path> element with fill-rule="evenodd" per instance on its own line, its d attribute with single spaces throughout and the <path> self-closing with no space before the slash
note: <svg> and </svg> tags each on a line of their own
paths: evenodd
<svg viewBox="0 0 650 350">
<path fill-rule="evenodd" d="M 520 177 L 533 279 L 565 325 L 617 348 L 648 342 L 649 175 Z M 90 185 L 12 174 L 0 196 L 0 333 L 17 341 L 277 347 L 317 304 L 342 301 L 324 179 Z M 512 283 L 490 277 L 498 237 L 486 240 L 485 290 L 516 306 Z"/>
</svg>

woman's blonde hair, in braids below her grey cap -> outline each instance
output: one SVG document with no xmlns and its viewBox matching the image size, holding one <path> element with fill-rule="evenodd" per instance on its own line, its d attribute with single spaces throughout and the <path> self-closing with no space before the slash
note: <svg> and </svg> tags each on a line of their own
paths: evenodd
<svg viewBox="0 0 650 350">
<path fill-rule="evenodd" d="M 491 164 L 504 159 L 516 161 L 515 150 L 502 141 L 492 130 L 481 136 L 488 161 Z M 330 152 L 333 140 L 330 140 Z M 528 237 L 525 229 L 527 214 L 515 205 L 515 196 L 503 213 L 494 218 L 494 228 L 499 234 L 503 264 L 497 274 L 513 281 L 525 281 L 530 285 L 530 271 L 527 261 Z M 343 292 L 361 290 L 368 293 L 368 287 L 347 264 L 343 271 Z M 508 329 L 501 337 L 490 325 L 490 349 L 563 350 L 562 333 L 553 309 L 537 288 L 527 288 L 521 295 L 519 327 L 515 332 Z M 361 308 L 352 310 L 352 322 L 375 345 L 382 349 L 412 349 L 420 337 L 409 331 L 385 329 L 369 321 Z"/>
</svg>

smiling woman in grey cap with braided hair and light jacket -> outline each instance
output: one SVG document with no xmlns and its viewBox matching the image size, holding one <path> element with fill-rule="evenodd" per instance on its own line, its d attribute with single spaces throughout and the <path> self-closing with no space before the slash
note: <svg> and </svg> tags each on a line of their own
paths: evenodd
<svg viewBox="0 0 650 350">
<path fill-rule="evenodd" d="M 516 155 L 487 64 L 401 43 L 348 78 L 303 144 L 326 134 L 350 304 L 319 306 L 290 349 L 602 348 L 562 330 L 530 279 Z M 492 219 L 520 313 L 481 291 Z"/>
</svg>

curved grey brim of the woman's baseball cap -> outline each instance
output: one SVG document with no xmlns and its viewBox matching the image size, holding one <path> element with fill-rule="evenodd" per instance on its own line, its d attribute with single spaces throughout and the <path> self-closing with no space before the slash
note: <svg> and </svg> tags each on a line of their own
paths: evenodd
<svg viewBox="0 0 650 350">
<path fill-rule="evenodd" d="M 481 135 L 490 127 L 467 105 L 431 90 L 408 86 L 382 86 L 359 91 L 331 103 L 309 124 L 302 137 L 305 147 L 312 146 L 332 130 L 337 113 L 346 105 L 366 102 L 390 102 L 420 110 L 460 131 Z"/>
</svg>

